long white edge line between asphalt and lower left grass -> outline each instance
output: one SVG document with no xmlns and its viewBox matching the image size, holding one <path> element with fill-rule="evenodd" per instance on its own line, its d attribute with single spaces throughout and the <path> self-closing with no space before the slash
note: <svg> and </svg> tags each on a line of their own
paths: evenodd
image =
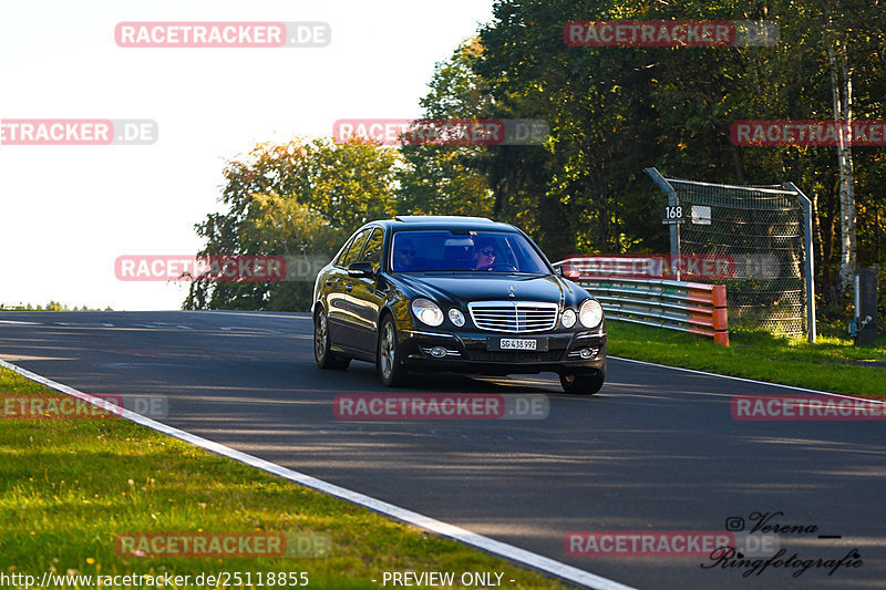
<svg viewBox="0 0 886 590">
<path fill-rule="evenodd" d="M 41 383 L 55 391 L 66 393 L 68 395 L 71 395 L 73 397 L 78 397 L 99 407 L 109 410 L 104 400 L 94 397 L 87 393 L 80 392 L 62 383 L 56 383 L 44 376 L 38 375 L 37 373 L 32 373 L 27 369 L 22 369 L 12 363 L 8 363 L 3 360 L 0 360 L 0 366 L 9 369 L 10 371 L 14 371 L 22 376 L 25 376 L 32 381 L 37 381 L 38 383 Z M 224 457 L 228 457 L 234 460 L 245 463 L 251 467 L 256 467 L 258 469 L 262 469 L 274 475 L 278 475 L 285 479 L 289 479 L 290 482 L 301 484 L 302 486 L 307 486 L 317 489 L 319 491 L 323 491 L 326 494 L 329 494 L 330 496 L 336 496 L 338 498 L 342 498 L 353 504 L 365 506 L 371 510 L 375 510 L 377 513 L 381 513 L 383 515 L 393 517 L 403 522 L 409 522 L 425 530 L 436 532 L 437 535 L 453 538 L 465 545 L 477 547 L 480 549 L 483 549 L 484 551 L 502 556 L 512 561 L 525 563 L 535 569 L 553 573 L 554 576 L 557 576 L 565 580 L 569 580 L 571 582 L 579 583 L 588 588 L 593 588 L 595 590 L 636 590 L 630 586 L 625 586 L 615 580 L 597 576 L 596 573 L 590 573 L 589 571 L 585 571 L 575 568 L 573 566 L 567 566 L 566 563 L 556 561 L 548 557 L 544 557 L 538 553 L 533 553 L 532 551 L 521 549 L 519 547 L 515 547 L 506 542 L 496 541 L 495 539 L 491 539 L 490 537 L 484 537 L 483 535 L 471 532 L 470 530 L 456 527 L 454 525 L 450 525 L 447 522 L 443 522 L 442 520 L 436 520 L 435 518 L 431 518 L 429 516 L 424 516 L 419 513 L 413 513 L 412 510 L 408 510 L 406 508 L 401 508 L 393 504 L 388 504 L 387 501 L 375 499 L 371 496 L 365 496 L 363 494 L 360 494 L 359 491 L 353 491 L 351 489 L 337 486 L 328 482 L 323 482 L 322 479 L 311 477 L 310 475 L 288 469 L 280 465 L 277 465 L 276 463 L 270 463 L 269 460 L 260 459 L 256 456 L 241 453 L 239 451 L 215 443 L 207 438 L 203 438 L 200 436 L 196 436 L 188 432 L 179 431 L 178 428 L 167 426 L 162 422 L 156 422 L 154 420 L 143 416 L 142 414 L 136 414 L 135 412 L 132 412 L 130 410 L 124 410 L 114 406 L 114 410 L 109 410 L 109 411 L 119 414 L 120 416 L 126 420 L 135 422 L 136 424 L 141 424 L 142 426 L 147 426 L 148 428 L 185 441 L 186 443 L 190 443 L 192 445 L 205 448 L 206 451 L 209 451 L 217 455 L 222 455 Z"/>
</svg>

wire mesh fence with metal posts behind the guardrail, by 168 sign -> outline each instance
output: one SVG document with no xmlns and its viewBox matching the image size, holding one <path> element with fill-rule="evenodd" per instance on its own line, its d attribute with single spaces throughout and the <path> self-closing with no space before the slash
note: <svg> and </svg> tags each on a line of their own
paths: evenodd
<svg viewBox="0 0 886 590">
<path fill-rule="evenodd" d="M 708 281 L 727 286 L 730 325 L 808 333 L 805 196 L 793 185 L 714 185 L 664 178 L 655 168 L 649 174 L 688 214 L 671 230 L 671 248 L 733 261 L 730 277 Z"/>
</svg>

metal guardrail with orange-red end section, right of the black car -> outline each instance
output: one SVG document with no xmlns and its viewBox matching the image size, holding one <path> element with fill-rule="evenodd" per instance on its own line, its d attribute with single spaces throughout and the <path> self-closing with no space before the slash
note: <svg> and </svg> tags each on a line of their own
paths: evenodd
<svg viewBox="0 0 886 590">
<path fill-rule="evenodd" d="M 566 262 L 554 262 L 554 267 Z M 723 284 L 618 277 L 567 278 L 593 292 L 607 320 L 702 334 L 729 346 L 727 288 Z"/>
</svg>

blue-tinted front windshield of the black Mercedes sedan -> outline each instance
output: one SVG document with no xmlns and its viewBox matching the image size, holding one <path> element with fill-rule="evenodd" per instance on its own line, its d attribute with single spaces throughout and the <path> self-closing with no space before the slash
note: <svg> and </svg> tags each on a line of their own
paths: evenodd
<svg viewBox="0 0 886 590">
<path fill-rule="evenodd" d="M 445 229 L 394 234 L 391 269 L 394 272 L 550 272 L 535 248 L 519 234 Z"/>
</svg>

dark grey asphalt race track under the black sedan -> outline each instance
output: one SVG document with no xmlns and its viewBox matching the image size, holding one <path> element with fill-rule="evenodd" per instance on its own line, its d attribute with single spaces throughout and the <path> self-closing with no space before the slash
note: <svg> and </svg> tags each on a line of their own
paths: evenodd
<svg viewBox="0 0 886 590">
<path fill-rule="evenodd" d="M 610 359 L 589 397 L 562 394 L 554 374 L 396 390 L 544 393 L 546 420 L 341 421 L 336 394 L 391 390 L 365 363 L 319 371 L 311 333 L 308 314 L 6 312 L 0 359 L 85 393 L 164 395 L 171 426 L 637 588 L 883 588 L 882 420 L 735 421 L 732 395 L 793 392 Z M 567 531 L 723 531 L 754 513 L 815 529 L 780 535 L 785 558 L 856 549 L 863 563 L 744 577 L 704 557 L 564 548 Z"/>
</svg>

